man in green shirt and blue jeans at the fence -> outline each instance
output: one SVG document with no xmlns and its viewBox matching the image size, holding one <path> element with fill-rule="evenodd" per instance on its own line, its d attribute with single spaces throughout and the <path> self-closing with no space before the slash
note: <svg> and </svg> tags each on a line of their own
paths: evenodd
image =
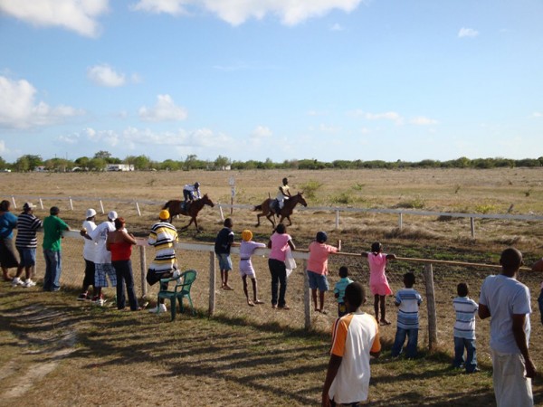
<svg viewBox="0 0 543 407">
<path fill-rule="evenodd" d="M 61 210 L 52 206 L 50 216 L 43 219 L 43 257 L 45 258 L 45 277 L 43 291 L 58 291 L 61 288 L 61 239 L 62 231 L 69 231 L 61 218 Z"/>
</svg>

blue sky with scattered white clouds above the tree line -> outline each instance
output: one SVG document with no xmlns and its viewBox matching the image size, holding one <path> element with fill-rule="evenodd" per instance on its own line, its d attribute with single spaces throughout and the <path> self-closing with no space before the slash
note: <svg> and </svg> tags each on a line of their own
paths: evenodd
<svg viewBox="0 0 543 407">
<path fill-rule="evenodd" d="M 543 2 L 0 0 L 0 156 L 543 156 Z"/>
</svg>

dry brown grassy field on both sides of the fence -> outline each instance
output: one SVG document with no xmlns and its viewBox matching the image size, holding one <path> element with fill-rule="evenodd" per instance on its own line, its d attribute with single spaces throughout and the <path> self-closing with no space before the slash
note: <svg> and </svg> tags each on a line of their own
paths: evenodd
<svg viewBox="0 0 543 407">
<path fill-rule="evenodd" d="M 103 173 L 103 174 L 0 174 L 1 197 L 42 196 L 44 206 L 58 204 L 62 218 L 79 227 L 84 210 L 98 209 L 98 198 L 138 199 L 166 202 L 178 198 L 182 185 L 199 181 L 214 202 L 230 202 L 230 176 L 236 180 L 236 204 L 260 204 L 275 190 L 283 176 L 289 176 L 294 191 L 305 190 L 309 206 L 414 208 L 439 212 L 543 213 L 540 169 L 500 170 L 410 170 L 410 171 L 270 171 Z M 59 198 L 93 197 L 74 200 L 74 211 Z M 55 198 L 58 200 L 55 201 Z M 20 206 L 24 199 L 17 199 Z M 138 217 L 134 204 L 104 201 L 105 210 L 115 209 L 127 218 L 129 229 L 146 234 L 157 218 L 157 204 L 140 204 Z M 512 209 L 511 209 L 512 207 Z M 14 211 L 15 213 L 17 211 Z M 46 211 L 38 211 L 43 217 Z M 229 213 L 225 213 L 227 215 Z M 103 216 L 100 216 L 100 220 Z M 254 229 L 255 213 L 233 212 L 234 232 L 252 228 L 255 240 L 267 241 L 271 227 Z M 189 230 L 182 241 L 211 242 L 221 228 L 216 209 L 206 207 L 199 220 L 204 232 Z M 176 225 L 185 219 L 174 221 Z M 318 230 L 329 232 L 331 242 L 341 239 L 344 251 L 369 250 L 372 241 L 383 241 L 386 251 L 402 257 L 436 260 L 462 260 L 496 263 L 499 253 L 510 244 L 525 253 L 527 264 L 543 252 L 540 222 L 477 221 L 476 238 L 470 236 L 467 220 L 443 221 L 432 217 L 404 216 L 398 230 L 397 217 L 366 213 L 341 215 L 335 230 L 334 213 L 295 212 L 289 228 L 295 243 L 307 248 Z M 317 405 L 326 372 L 329 327 L 335 314 L 327 297 L 328 316 L 315 316 L 313 330 L 303 327 L 303 273 L 291 278 L 287 299 L 289 312 L 270 312 L 269 275 L 264 259 L 255 266 L 266 305 L 249 308 L 243 290 L 232 274 L 233 292 L 217 292 L 217 313 L 206 317 L 208 287 L 205 272 L 195 286 L 198 316 L 183 315 L 175 323 L 148 313 L 121 313 L 113 308 L 93 308 L 74 301 L 81 284 L 81 245 L 64 241 L 67 263 L 63 273 L 73 276 L 73 284 L 62 293 L 42 293 L 38 289 L 12 289 L 0 284 L 0 405 L 161 405 L 176 401 L 181 405 Z M 79 244 L 79 242 L 78 242 Z M 180 253 L 186 267 L 205 270 L 208 258 Z M 367 265 L 358 258 L 330 260 L 330 284 L 337 280 L 338 266 L 347 264 L 354 279 L 367 283 Z M 424 296 L 422 266 L 394 262 L 389 280 L 394 290 L 401 288 L 405 270 L 417 274 L 416 288 Z M 438 312 L 437 350 L 428 353 L 426 308 L 421 308 L 421 357 L 414 361 L 392 360 L 389 349 L 395 327 L 382 327 L 385 352 L 372 364 L 370 397 L 372 405 L 492 405 L 489 324 L 478 321 L 478 354 L 482 372 L 466 375 L 452 370 L 451 300 L 460 280 L 472 287 L 477 299 L 482 279 L 489 270 L 477 267 L 441 266 L 434 268 Z M 43 270 L 38 274 L 43 275 Z M 70 274 L 72 273 L 72 274 Z M 137 270 L 135 270 L 137 273 Z M 64 276 L 63 274 L 63 276 Z M 537 298 L 540 275 L 520 277 Z M 108 292 L 110 294 L 110 292 Z M 533 306 L 537 311 L 537 303 Z M 395 310 L 388 300 L 391 319 Z M 370 312 L 371 307 L 366 306 Z M 530 351 L 536 365 L 543 365 L 543 349 L 537 338 L 543 334 L 538 313 L 532 316 Z M 543 403 L 543 386 L 535 381 L 536 401 Z"/>
</svg>

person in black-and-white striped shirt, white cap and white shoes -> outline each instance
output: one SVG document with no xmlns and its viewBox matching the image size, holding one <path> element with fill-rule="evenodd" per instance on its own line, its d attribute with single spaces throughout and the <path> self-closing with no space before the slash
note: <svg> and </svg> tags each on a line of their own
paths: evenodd
<svg viewBox="0 0 543 407">
<path fill-rule="evenodd" d="M 33 269 L 36 264 L 36 249 L 38 240 L 36 232 L 43 227 L 43 222 L 33 214 L 35 205 L 27 202 L 23 205 L 23 213 L 17 217 L 17 238 L 15 239 L 15 247 L 19 251 L 19 269 L 12 281 L 13 285 L 22 284 L 24 288 L 33 287 L 36 283 L 33 281 Z M 23 274 L 24 282 L 20 279 Z"/>
</svg>

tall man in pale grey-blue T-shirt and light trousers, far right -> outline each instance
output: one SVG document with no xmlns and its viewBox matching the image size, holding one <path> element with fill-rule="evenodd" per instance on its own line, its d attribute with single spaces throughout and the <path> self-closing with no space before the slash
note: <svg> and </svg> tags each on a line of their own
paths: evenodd
<svg viewBox="0 0 543 407">
<path fill-rule="evenodd" d="M 533 406 L 536 366 L 529 356 L 529 289 L 517 280 L 522 253 L 506 249 L 501 273 L 482 282 L 479 317 L 491 317 L 492 382 L 498 407 Z"/>
</svg>

